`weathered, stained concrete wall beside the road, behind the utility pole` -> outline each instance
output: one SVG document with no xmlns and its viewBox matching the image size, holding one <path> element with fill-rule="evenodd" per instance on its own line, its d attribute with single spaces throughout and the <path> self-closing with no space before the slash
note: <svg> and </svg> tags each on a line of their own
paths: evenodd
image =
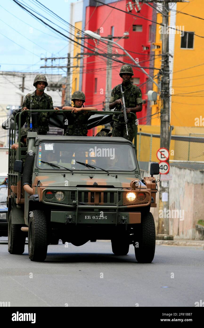
<svg viewBox="0 0 204 328">
<path fill-rule="evenodd" d="M 149 171 L 141 170 L 140 173 L 142 178 L 149 175 Z M 204 170 L 197 171 L 170 165 L 170 174 L 172 180 L 169 181 L 169 210 L 181 210 L 184 219 L 169 218 L 169 234 L 173 235 L 174 239 L 195 239 L 195 225 L 204 216 Z M 157 178 L 159 176 L 156 176 Z M 156 197 L 157 204 L 158 199 L 159 193 Z M 152 208 L 151 212 L 155 219 L 157 233 L 158 207 Z"/>
</svg>

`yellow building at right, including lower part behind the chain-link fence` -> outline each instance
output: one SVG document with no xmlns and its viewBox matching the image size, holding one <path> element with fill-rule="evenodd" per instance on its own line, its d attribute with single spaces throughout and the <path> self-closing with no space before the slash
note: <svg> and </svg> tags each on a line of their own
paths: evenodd
<svg viewBox="0 0 204 328">
<path fill-rule="evenodd" d="M 162 10 L 162 7 L 158 5 Z M 190 3 L 172 3 L 169 11 L 169 53 L 170 60 L 170 124 L 174 126 L 172 135 L 204 137 L 204 36 L 202 20 L 190 15 L 204 17 L 203 0 Z M 178 13 L 182 11 L 188 15 Z M 162 23 L 162 15 L 157 14 L 157 22 Z M 154 67 L 161 67 L 162 41 L 159 33 L 160 25 L 156 25 Z M 193 32 L 193 33 L 189 33 Z M 154 70 L 154 76 L 158 70 Z M 155 77 L 159 84 L 159 80 Z M 153 90 L 158 88 L 153 84 Z M 151 126 L 138 126 L 137 149 L 139 161 L 158 161 L 156 153 L 160 147 L 160 139 L 142 136 L 139 133 L 160 134 L 161 103 L 152 106 Z M 172 140 L 170 144 L 170 160 L 204 161 L 204 143 Z"/>
</svg>

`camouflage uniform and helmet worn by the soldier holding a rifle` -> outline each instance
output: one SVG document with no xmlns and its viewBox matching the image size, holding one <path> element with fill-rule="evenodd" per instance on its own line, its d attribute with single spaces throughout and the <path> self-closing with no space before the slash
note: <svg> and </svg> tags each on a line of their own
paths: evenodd
<svg viewBox="0 0 204 328">
<path fill-rule="evenodd" d="M 132 70 L 132 67 L 130 65 L 123 65 L 122 66 L 124 72 L 130 72 L 130 68 Z M 121 70 L 122 70 L 121 68 Z M 122 73 L 120 72 L 120 76 Z M 132 73 L 133 75 L 133 73 Z M 125 98 L 125 106 L 126 108 L 134 108 L 137 107 L 138 104 L 142 104 L 142 93 L 139 87 L 137 87 L 135 84 L 132 84 L 129 81 L 129 84 L 125 87 L 122 84 L 122 90 L 124 91 L 124 98 Z M 121 91 L 120 91 L 120 84 L 115 86 L 111 93 L 111 98 L 109 100 L 110 103 L 114 102 L 117 99 L 122 98 Z M 114 109 L 114 112 L 121 112 L 121 104 L 117 104 L 116 108 Z M 135 113 L 136 114 L 136 113 Z M 124 116 L 123 113 L 121 114 L 113 114 L 113 130 L 112 130 L 112 136 L 113 137 L 124 137 L 125 139 L 128 139 L 130 141 L 133 141 L 135 136 L 135 128 L 137 133 L 137 125 L 135 124 L 135 118 L 132 114 L 127 114 L 128 123 L 127 123 L 127 129 L 128 129 L 128 136 L 126 132 L 126 125 L 124 122 Z"/>
</svg>

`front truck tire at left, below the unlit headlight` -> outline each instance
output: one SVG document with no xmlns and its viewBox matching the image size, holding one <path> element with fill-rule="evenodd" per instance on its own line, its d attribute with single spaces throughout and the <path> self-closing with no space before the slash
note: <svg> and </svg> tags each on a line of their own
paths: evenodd
<svg viewBox="0 0 204 328">
<path fill-rule="evenodd" d="M 33 210 L 29 220 L 28 253 L 31 261 L 42 262 L 47 256 L 47 221 L 41 210 Z"/>
</svg>

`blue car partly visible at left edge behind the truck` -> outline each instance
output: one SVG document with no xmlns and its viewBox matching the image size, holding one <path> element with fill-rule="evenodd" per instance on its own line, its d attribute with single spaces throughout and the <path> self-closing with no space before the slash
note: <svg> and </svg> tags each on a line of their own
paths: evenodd
<svg viewBox="0 0 204 328">
<path fill-rule="evenodd" d="M 8 189 L 6 185 L 0 186 L 0 237 L 8 236 L 8 207 L 7 207 Z"/>
</svg>

